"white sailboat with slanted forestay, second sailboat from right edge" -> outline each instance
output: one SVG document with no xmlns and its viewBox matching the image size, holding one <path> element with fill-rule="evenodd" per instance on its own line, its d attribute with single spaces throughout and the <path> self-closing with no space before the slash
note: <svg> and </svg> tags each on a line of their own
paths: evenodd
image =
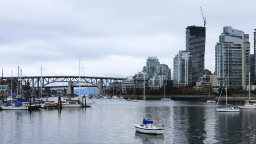
<svg viewBox="0 0 256 144">
<path fill-rule="evenodd" d="M 228 82 L 228 77 L 225 78 L 225 81 L 226 80 Z M 224 81 L 224 83 L 225 83 L 225 81 Z M 223 88 L 224 88 L 224 84 L 223 84 L 222 90 L 223 90 Z M 222 90 L 221 90 L 221 92 L 222 92 Z M 220 97 L 221 97 L 221 94 L 219 95 L 219 99 L 220 99 Z M 227 104 L 227 85 L 226 85 L 226 106 L 225 107 L 218 107 L 219 99 L 216 104 L 216 110 L 218 112 L 240 112 L 240 109 L 237 106 L 232 106 L 232 105 Z"/>
</svg>

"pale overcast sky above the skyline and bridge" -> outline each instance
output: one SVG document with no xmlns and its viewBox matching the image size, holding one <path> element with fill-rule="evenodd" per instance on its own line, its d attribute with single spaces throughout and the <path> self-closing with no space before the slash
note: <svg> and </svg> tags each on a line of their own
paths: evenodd
<svg viewBox="0 0 256 144">
<path fill-rule="evenodd" d="M 185 50 L 187 26 L 206 17 L 205 69 L 214 71 L 215 45 L 224 26 L 249 34 L 253 53 L 256 1 L 238 0 L 2 0 L 0 68 L 4 76 L 127 77 L 157 56 L 173 73 Z M 83 72 L 82 72 L 83 73 Z"/>
</svg>

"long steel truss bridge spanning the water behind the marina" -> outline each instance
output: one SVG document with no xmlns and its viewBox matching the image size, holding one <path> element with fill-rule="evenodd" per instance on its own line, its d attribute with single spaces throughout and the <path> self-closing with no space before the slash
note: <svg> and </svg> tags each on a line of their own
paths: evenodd
<svg viewBox="0 0 256 144">
<path fill-rule="evenodd" d="M 14 82 L 17 82 L 18 77 L 13 77 Z M 3 80 L 11 80 L 11 77 L 3 77 Z M 79 76 L 23 76 L 19 77 L 19 80 L 24 85 L 29 85 L 31 87 L 39 88 L 42 85 L 42 88 L 51 88 L 56 87 L 50 85 L 52 83 L 74 83 L 74 87 L 79 86 Z M 90 77 L 90 76 L 80 76 L 80 85 L 82 87 L 97 87 L 100 90 L 107 87 L 121 87 L 122 80 L 126 78 L 122 77 Z M 66 86 L 57 86 L 57 87 L 66 87 Z"/>
</svg>

